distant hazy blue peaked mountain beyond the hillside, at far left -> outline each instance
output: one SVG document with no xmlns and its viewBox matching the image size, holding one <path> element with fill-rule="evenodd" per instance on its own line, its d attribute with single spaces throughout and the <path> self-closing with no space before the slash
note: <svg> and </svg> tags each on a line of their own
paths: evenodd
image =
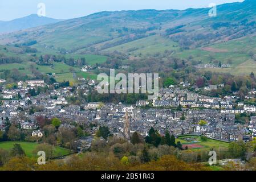
<svg viewBox="0 0 256 182">
<path fill-rule="evenodd" d="M 0 21 L 0 33 L 25 30 L 27 28 L 43 26 L 56 22 L 60 22 L 60 20 L 47 17 L 39 17 L 36 14 L 31 14 L 29 16 L 10 21 Z"/>
</svg>

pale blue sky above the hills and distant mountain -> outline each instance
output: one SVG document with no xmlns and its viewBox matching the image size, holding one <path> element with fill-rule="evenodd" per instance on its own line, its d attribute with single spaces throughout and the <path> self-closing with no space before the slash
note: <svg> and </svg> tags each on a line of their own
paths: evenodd
<svg viewBox="0 0 256 182">
<path fill-rule="evenodd" d="M 243 0 L 0 0 L 0 20 L 21 18 L 38 13 L 38 4 L 46 6 L 46 16 L 70 19 L 99 11 L 178 9 L 208 7 L 210 3 L 242 2 Z"/>
</svg>

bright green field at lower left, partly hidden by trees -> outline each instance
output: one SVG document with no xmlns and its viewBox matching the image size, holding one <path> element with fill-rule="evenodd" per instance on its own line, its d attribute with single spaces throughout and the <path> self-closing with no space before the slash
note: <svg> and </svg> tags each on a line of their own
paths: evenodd
<svg viewBox="0 0 256 182">
<path fill-rule="evenodd" d="M 0 148 L 4 150 L 11 150 L 13 148 L 13 145 L 15 143 L 18 143 L 21 145 L 23 150 L 25 151 L 26 155 L 29 157 L 35 156 L 33 154 L 33 151 L 35 150 L 36 146 L 38 146 L 38 143 L 31 143 L 31 142 L 0 142 Z M 70 150 L 62 147 L 55 146 L 55 156 L 63 156 L 70 154 Z"/>
</svg>

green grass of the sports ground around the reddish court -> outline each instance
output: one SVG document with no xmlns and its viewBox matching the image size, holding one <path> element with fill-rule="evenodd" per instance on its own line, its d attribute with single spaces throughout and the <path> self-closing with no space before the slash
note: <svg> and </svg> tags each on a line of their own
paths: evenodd
<svg viewBox="0 0 256 182">
<path fill-rule="evenodd" d="M 193 143 L 193 142 L 188 142 L 186 140 L 184 140 L 185 138 L 196 138 L 197 142 Z M 176 142 L 180 141 L 181 144 L 198 144 L 200 146 L 202 146 L 202 148 L 192 148 L 192 150 L 201 150 L 201 149 L 210 149 L 210 148 L 227 148 L 229 146 L 229 143 L 227 142 L 222 142 L 222 141 L 218 141 L 218 140 L 213 140 L 213 139 L 207 139 L 206 141 L 201 141 L 200 137 L 194 137 L 194 136 L 186 136 L 186 137 L 179 137 L 176 139 Z"/>
</svg>

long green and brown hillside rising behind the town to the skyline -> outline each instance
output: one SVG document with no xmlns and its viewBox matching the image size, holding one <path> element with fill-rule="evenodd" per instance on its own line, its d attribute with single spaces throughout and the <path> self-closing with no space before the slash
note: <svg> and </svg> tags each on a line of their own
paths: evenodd
<svg viewBox="0 0 256 182">
<path fill-rule="evenodd" d="M 5 34 L 0 44 L 32 41 L 36 44 L 31 47 L 50 54 L 108 55 L 118 51 L 128 60 L 172 51 L 173 57 L 181 59 L 231 65 L 230 69 L 214 71 L 254 71 L 251 52 L 256 49 L 255 1 L 220 5 L 217 17 L 209 17 L 209 10 L 103 11 Z M 245 63 L 249 67 L 245 68 Z"/>
</svg>

